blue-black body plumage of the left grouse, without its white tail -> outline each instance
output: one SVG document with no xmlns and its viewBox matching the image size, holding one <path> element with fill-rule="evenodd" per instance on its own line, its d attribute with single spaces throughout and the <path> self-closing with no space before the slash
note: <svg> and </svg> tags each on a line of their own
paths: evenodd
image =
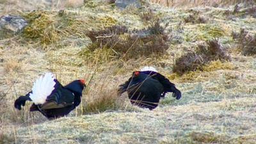
<svg viewBox="0 0 256 144">
<path fill-rule="evenodd" d="M 44 104 L 33 103 L 30 111 L 40 111 L 44 116 L 52 119 L 67 115 L 80 104 L 85 88 L 83 79 L 72 81 L 66 86 L 62 86 L 57 79 L 54 79 L 54 82 L 54 90 L 47 96 Z M 33 92 L 15 100 L 15 108 L 20 110 L 21 106 L 25 106 L 26 100 L 32 101 L 29 97 L 30 93 Z"/>
</svg>

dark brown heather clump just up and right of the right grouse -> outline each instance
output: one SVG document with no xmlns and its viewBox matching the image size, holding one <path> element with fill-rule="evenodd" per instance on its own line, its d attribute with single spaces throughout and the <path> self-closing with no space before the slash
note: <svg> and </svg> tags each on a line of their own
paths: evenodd
<svg viewBox="0 0 256 144">
<path fill-rule="evenodd" d="M 195 52 L 188 52 L 177 58 L 173 66 L 173 72 L 182 75 L 188 71 L 204 70 L 204 65 L 216 60 L 222 62 L 230 61 L 231 57 L 220 45 L 218 40 L 210 40 L 206 44 L 198 44 Z"/>
</svg>

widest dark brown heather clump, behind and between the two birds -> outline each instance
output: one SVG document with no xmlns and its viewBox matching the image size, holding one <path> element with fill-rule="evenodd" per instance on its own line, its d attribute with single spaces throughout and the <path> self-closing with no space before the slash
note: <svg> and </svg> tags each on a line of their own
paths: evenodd
<svg viewBox="0 0 256 144">
<path fill-rule="evenodd" d="M 148 28 L 129 32 L 125 26 L 112 26 L 100 31 L 89 31 L 87 36 L 92 40 L 90 51 L 111 49 L 113 56 L 129 60 L 165 54 L 169 47 L 166 28 L 154 21 Z"/>
</svg>

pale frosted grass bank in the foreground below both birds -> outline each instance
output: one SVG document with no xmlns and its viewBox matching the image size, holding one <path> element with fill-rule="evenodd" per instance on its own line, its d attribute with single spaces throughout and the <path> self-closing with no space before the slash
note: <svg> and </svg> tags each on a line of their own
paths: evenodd
<svg viewBox="0 0 256 144">
<path fill-rule="evenodd" d="M 17 131 L 23 143 L 255 143 L 256 100 L 241 98 L 60 118 Z"/>
</svg>

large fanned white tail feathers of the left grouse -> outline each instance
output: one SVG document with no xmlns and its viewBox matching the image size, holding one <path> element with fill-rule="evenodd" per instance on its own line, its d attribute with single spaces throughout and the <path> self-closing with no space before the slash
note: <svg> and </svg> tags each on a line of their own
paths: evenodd
<svg viewBox="0 0 256 144">
<path fill-rule="evenodd" d="M 33 85 L 32 93 L 29 95 L 30 99 L 35 104 L 44 104 L 47 97 L 54 90 L 54 85 L 54 76 L 51 72 L 47 72 L 44 77 L 40 76 Z"/>
</svg>

